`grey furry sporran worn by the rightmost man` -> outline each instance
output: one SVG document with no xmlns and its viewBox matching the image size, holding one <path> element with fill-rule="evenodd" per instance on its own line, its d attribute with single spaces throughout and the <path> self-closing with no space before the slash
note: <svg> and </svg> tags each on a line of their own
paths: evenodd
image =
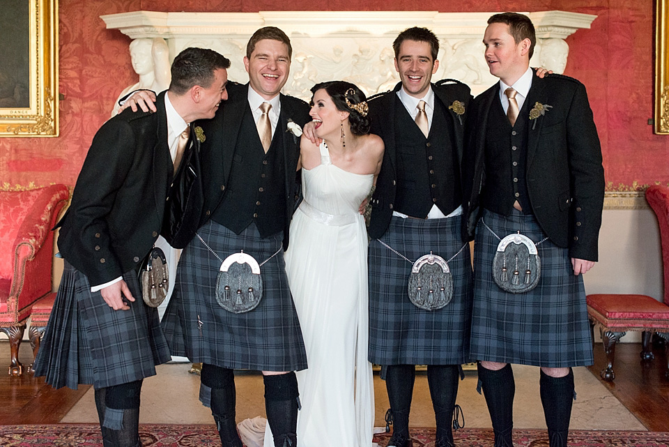
<svg viewBox="0 0 669 447">
<path fill-rule="evenodd" d="M 537 245 L 523 234 L 509 234 L 500 241 L 493 259 L 493 279 L 500 289 L 522 294 L 537 287 L 541 259 Z"/>
</svg>

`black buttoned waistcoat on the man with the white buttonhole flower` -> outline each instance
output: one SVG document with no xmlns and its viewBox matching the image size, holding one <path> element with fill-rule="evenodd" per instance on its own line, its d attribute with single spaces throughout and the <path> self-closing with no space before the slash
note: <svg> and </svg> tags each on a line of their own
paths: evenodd
<svg viewBox="0 0 669 447">
<path fill-rule="evenodd" d="M 271 236 L 284 229 L 286 221 L 282 135 L 275 130 L 265 153 L 249 107 L 239 134 L 243 136 L 237 140 L 230 179 L 211 218 L 236 234 L 254 222 L 262 237 Z"/>
</svg>

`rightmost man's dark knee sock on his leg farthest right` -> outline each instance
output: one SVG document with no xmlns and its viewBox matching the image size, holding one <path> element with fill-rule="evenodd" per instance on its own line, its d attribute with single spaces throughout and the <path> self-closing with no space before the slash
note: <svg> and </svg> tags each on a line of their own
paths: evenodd
<svg viewBox="0 0 669 447">
<path fill-rule="evenodd" d="M 551 377 L 541 371 L 539 389 L 550 446 L 567 447 L 571 404 L 574 400 L 574 372 L 569 368 L 566 376 Z"/>
</svg>

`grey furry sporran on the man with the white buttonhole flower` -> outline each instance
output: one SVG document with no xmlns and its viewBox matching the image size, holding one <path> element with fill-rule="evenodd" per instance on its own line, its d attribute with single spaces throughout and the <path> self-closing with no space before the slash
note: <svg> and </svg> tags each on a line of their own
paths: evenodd
<svg viewBox="0 0 669 447">
<path fill-rule="evenodd" d="M 233 253 L 221 264 L 216 280 L 216 301 L 229 312 L 254 310 L 263 296 L 260 266 L 244 252 Z"/>
</svg>

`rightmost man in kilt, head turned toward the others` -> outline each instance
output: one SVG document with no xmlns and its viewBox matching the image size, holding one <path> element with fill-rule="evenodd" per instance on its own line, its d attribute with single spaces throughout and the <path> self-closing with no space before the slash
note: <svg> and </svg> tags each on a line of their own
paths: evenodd
<svg viewBox="0 0 669 447">
<path fill-rule="evenodd" d="M 495 446 L 512 446 L 510 363 L 541 367 L 550 445 L 567 446 L 571 367 L 593 361 L 582 274 L 597 261 L 599 138 L 583 84 L 533 75 L 530 19 L 503 13 L 488 24 L 486 62 L 500 82 L 472 100 L 464 162 L 464 231 L 476 235 L 471 355 Z M 518 233 L 527 248 L 502 241 Z"/>
</svg>

